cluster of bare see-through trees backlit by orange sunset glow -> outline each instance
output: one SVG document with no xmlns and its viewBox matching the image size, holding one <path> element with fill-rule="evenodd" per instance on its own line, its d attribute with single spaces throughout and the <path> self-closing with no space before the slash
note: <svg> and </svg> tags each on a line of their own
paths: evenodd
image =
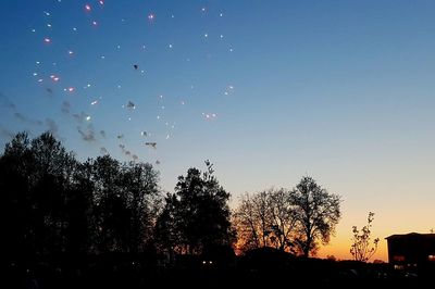
<svg viewBox="0 0 435 289">
<path fill-rule="evenodd" d="M 309 256 L 327 243 L 340 218 L 340 198 L 303 177 L 295 189 L 246 193 L 234 212 L 243 252 L 272 247 Z"/>
</svg>

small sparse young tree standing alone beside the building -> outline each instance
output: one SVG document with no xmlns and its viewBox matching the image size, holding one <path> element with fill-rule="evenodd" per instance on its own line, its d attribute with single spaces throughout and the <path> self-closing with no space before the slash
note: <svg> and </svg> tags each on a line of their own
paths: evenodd
<svg viewBox="0 0 435 289">
<path fill-rule="evenodd" d="M 377 250 L 380 238 L 374 239 L 373 244 L 371 244 L 370 239 L 370 235 L 372 234 L 370 228 L 372 227 L 373 217 L 374 213 L 369 212 L 368 224 L 361 230 L 357 226 L 352 226 L 353 236 L 350 253 L 356 261 L 368 262 Z"/>
</svg>

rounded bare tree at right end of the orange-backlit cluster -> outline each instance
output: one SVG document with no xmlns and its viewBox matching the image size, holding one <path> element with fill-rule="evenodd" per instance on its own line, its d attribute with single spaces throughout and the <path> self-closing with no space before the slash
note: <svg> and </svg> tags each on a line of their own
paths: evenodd
<svg viewBox="0 0 435 289">
<path fill-rule="evenodd" d="M 311 177 L 303 177 L 291 192 L 297 219 L 295 244 L 303 256 L 330 242 L 340 218 L 340 197 L 328 193 Z"/>
</svg>

